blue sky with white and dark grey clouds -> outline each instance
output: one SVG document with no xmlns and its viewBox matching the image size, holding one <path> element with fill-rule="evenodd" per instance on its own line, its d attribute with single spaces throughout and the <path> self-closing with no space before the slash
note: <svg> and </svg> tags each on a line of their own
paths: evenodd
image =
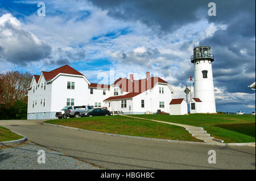
<svg viewBox="0 0 256 181">
<path fill-rule="evenodd" d="M 90 82 L 102 78 L 146 77 L 168 81 L 174 98 L 185 97 L 193 77 L 193 47 L 208 45 L 214 54 L 217 111 L 255 110 L 255 1 L 0 0 L 0 72 L 40 74 L 68 64 Z"/>
</svg>

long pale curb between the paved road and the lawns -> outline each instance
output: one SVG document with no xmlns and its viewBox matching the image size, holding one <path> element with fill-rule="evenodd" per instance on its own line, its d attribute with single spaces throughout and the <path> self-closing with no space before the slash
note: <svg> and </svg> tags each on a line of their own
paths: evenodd
<svg viewBox="0 0 256 181">
<path fill-rule="evenodd" d="M 176 142 L 176 143 L 195 144 L 195 145 L 218 145 L 218 146 L 251 146 L 251 145 L 255 145 L 255 142 L 245 142 L 245 143 L 209 143 L 208 142 L 207 143 L 207 142 L 196 142 L 196 141 L 165 140 L 165 139 L 160 139 L 160 138 L 148 138 L 148 137 L 141 137 L 141 136 L 128 136 L 128 135 L 123 135 L 123 134 L 89 131 L 89 130 L 86 130 L 86 129 L 66 127 L 66 126 L 63 126 L 63 125 L 57 125 L 57 124 L 51 124 L 51 123 L 42 123 L 42 124 L 43 125 L 48 125 L 48 126 L 51 126 L 51 127 L 60 127 L 60 128 L 72 129 L 72 130 L 82 131 L 82 132 L 104 134 L 104 135 L 108 135 L 108 136 L 117 136 L 117 137 L 124 137 L 124 138 L 133 138 L 133 139 L 136 139 L 136 140 Z"/>
</svg>

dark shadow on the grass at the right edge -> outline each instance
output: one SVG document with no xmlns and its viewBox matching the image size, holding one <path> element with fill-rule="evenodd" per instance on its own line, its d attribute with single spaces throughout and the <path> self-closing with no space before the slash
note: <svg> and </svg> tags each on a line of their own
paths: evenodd
<svg viewBox="0 0 256 181">
<path fill-rule="evenodd" d="M 220 124 L 214 125 L 214 127 L 228 129 L 229 131 L 235 131 L 255 138 L 255 123 Z"/>
</svg>

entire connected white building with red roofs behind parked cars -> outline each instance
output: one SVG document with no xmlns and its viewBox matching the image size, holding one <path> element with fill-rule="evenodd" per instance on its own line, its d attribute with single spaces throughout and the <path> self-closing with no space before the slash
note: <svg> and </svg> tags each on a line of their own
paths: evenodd
<svg viewBox="0 0 256 181">
<path fill-rule="evenodd" d="M 64 106 L 91 105 L 125 113 L 168 112 L 174 90 L 159 77 L 119 78 L 111 86 L 90 83 L 68 65 L 34 75 L 28 88 L 27 119 L 55 119 Z"/>
</svg>

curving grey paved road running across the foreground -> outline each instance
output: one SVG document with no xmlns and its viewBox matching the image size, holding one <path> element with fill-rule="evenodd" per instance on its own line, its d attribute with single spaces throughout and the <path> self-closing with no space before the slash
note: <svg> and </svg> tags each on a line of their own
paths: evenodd
<svg viewBox="0 0 256 181">
<path fill-rule="evenodd" d="M 212 146 L 135 140 L 7 120 L 0 125 L 28 140 L 105 169 L 254 169 L 255 146 Z M 217 163 L 208 163 L 215 150 Z"/>
</svg>

